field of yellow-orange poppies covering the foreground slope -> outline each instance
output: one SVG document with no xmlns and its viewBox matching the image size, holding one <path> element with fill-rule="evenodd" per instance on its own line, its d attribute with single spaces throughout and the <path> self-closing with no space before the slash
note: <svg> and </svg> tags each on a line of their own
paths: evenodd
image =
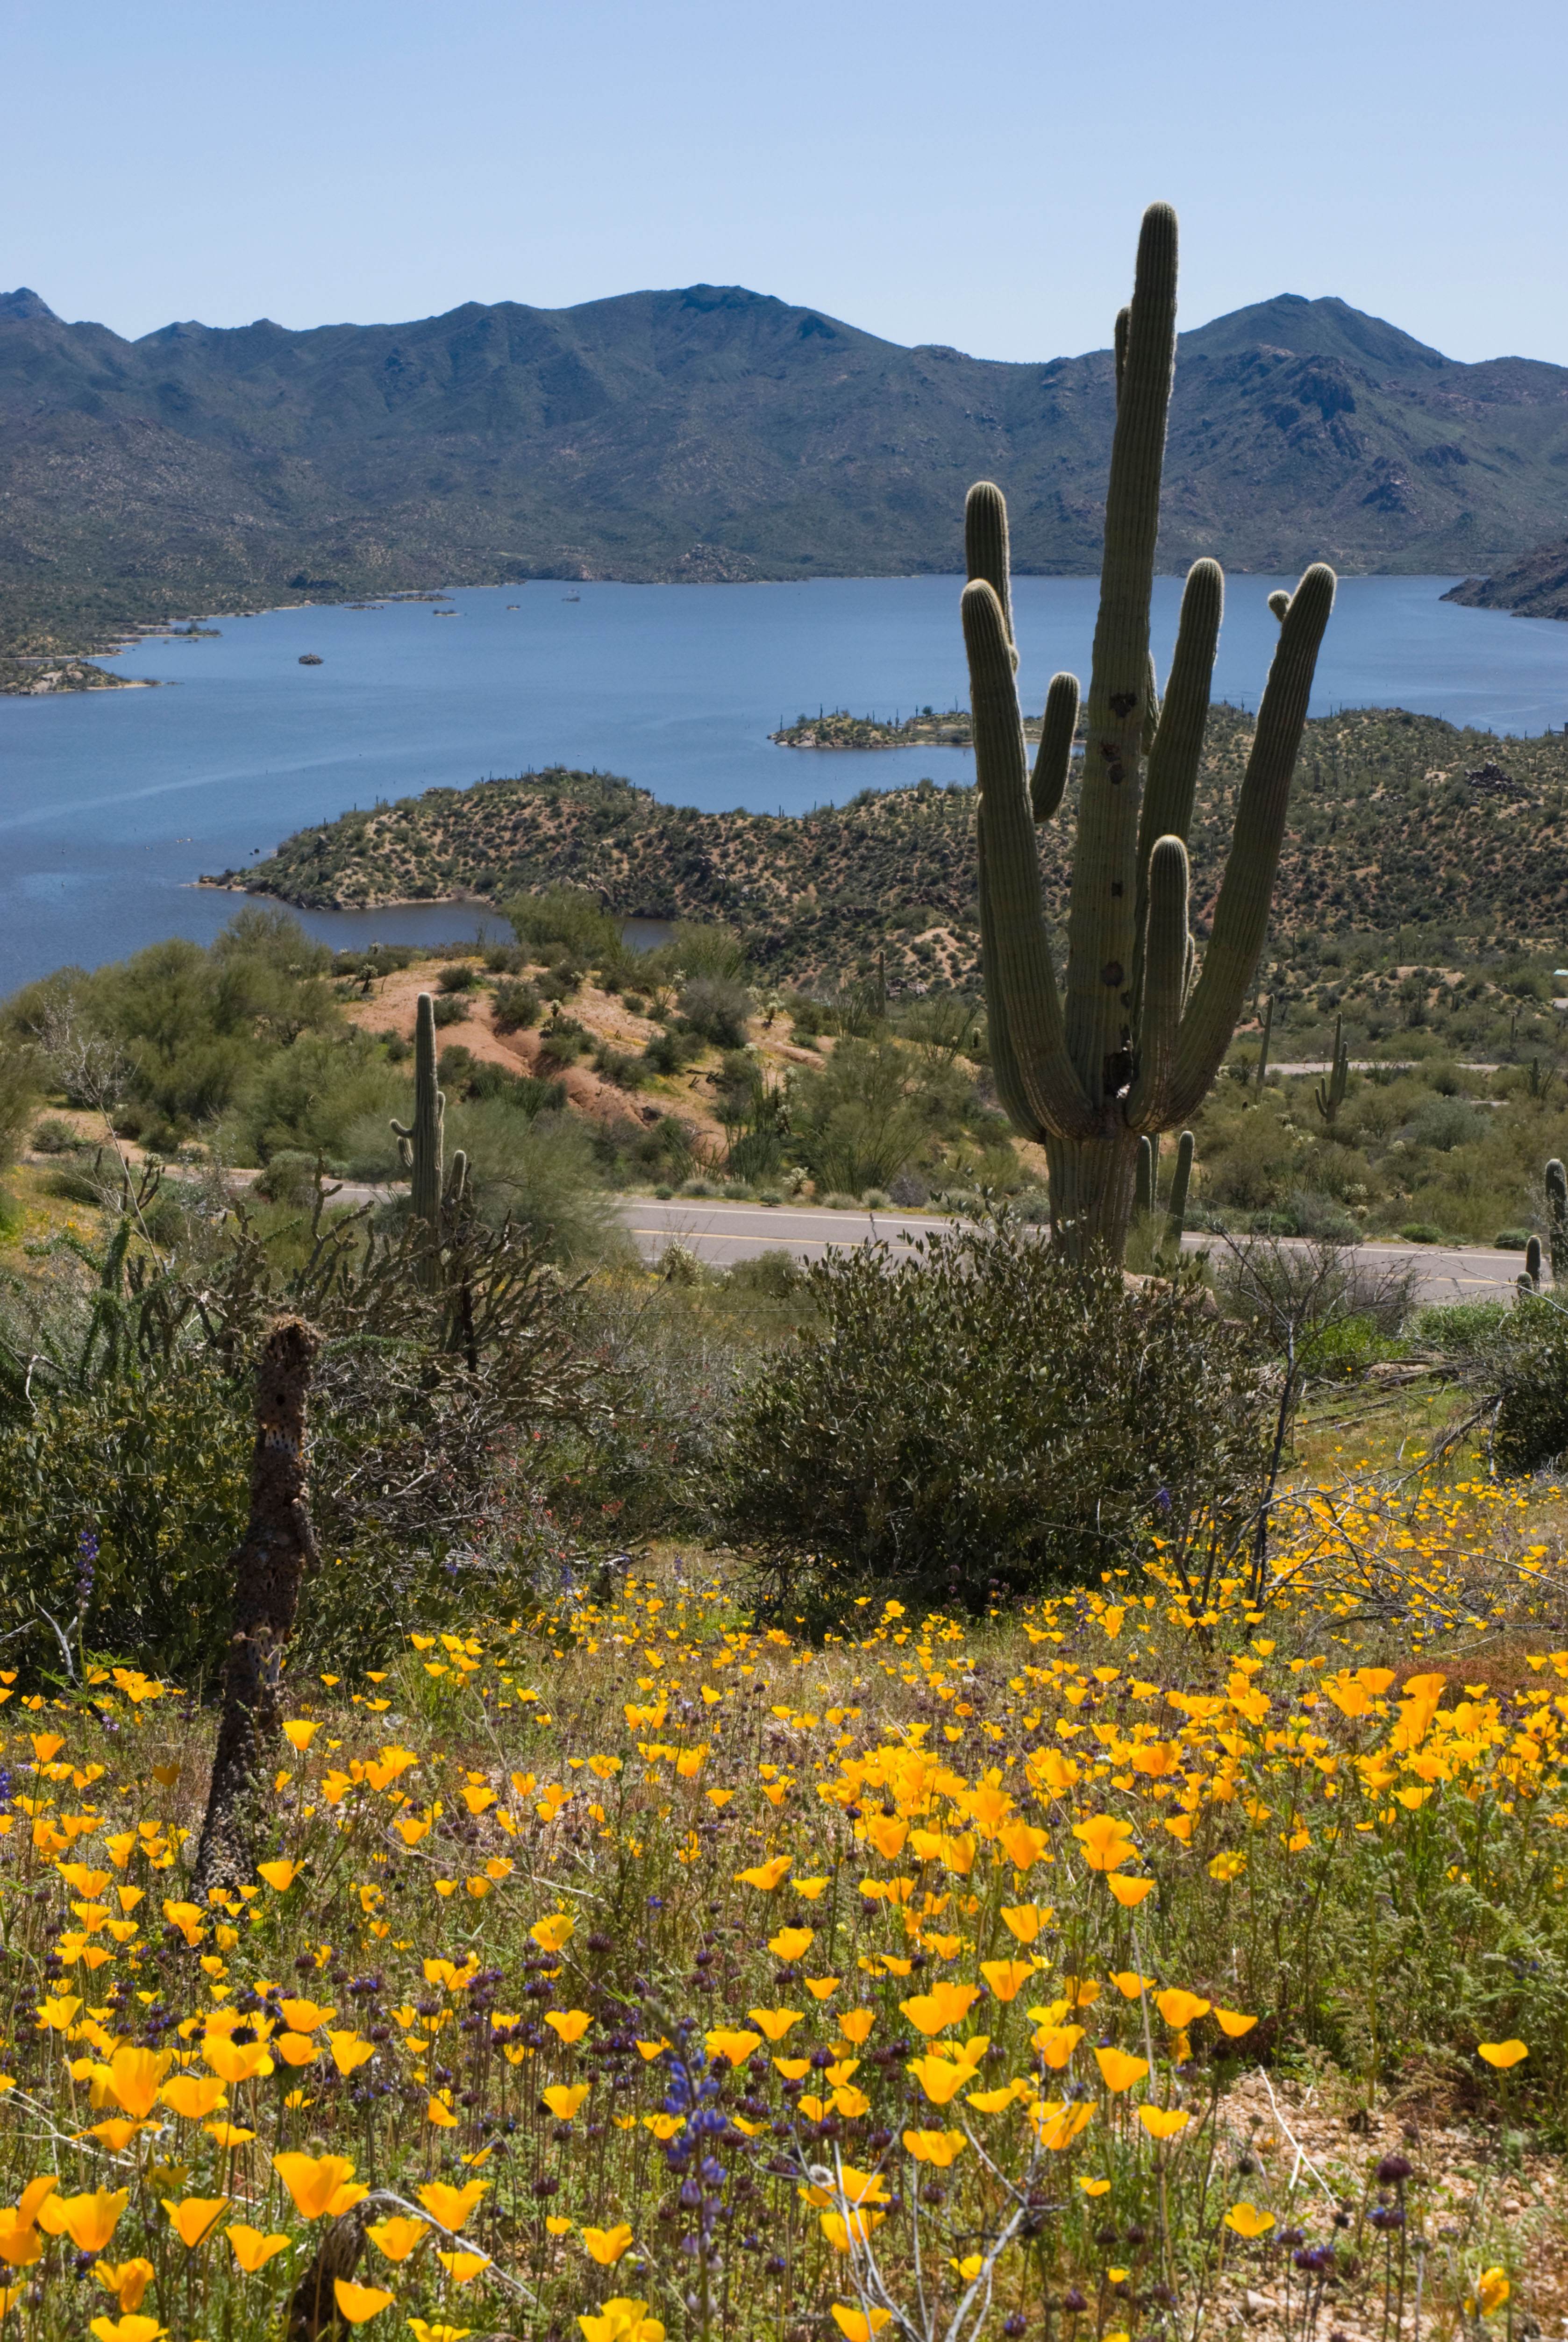
<svg viewBox="0 0 1568 2342">
<path fill-rule="evenodd" d="M 762 1628 L 722 1557 L 209 1721 L 2 1677 L 0 2337 L 1291 2342 L 1568 2309 L 1568 1628 L 1491 1485 Z"/>
</svg>

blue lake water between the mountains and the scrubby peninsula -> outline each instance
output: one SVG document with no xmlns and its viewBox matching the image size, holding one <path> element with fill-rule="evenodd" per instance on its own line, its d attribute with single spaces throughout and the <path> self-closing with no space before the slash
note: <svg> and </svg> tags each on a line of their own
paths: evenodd
<svg viewBox="0 0 1568 2342">
<path fill-rule="evenodd" d="M 1247 707 L 1268 672 L 1266 600 L 1228 588 L 1216 696 Z M 1500 733 L 1568 721 L 1568 625 L 1455 609 L 1451 578 L 1348 578 L 1315 712 L 1399 705 Z M 216 639 L 143 642 L 120 672 L 173 689 L 0 698 L 0 991 L 162 934 L 209 939 L 234 897 L 195 888 L 307 822 L 377 796 L 541 763 L 600 766 L 656 796 L 806 810 L 870 785 L 970 778 L 963 749 L 818 754 L 766 738 L 818 705 L 858 714 L 961 705 L 956 578 L 809 586 L 457 590 L 429 602 L 216 618 Z M 1022 686 L 1088 672 L 1097 583 L 1020 578 Z M 1170 658 L 1179 581 L 1155 588 Z M 314 651 L 323 665 L 302 667 Z M 335 941 L 448 941 L 476 911 L 309 913 Z M 495 920 L 490 923 L 495 925 Z"/>
</svg>

